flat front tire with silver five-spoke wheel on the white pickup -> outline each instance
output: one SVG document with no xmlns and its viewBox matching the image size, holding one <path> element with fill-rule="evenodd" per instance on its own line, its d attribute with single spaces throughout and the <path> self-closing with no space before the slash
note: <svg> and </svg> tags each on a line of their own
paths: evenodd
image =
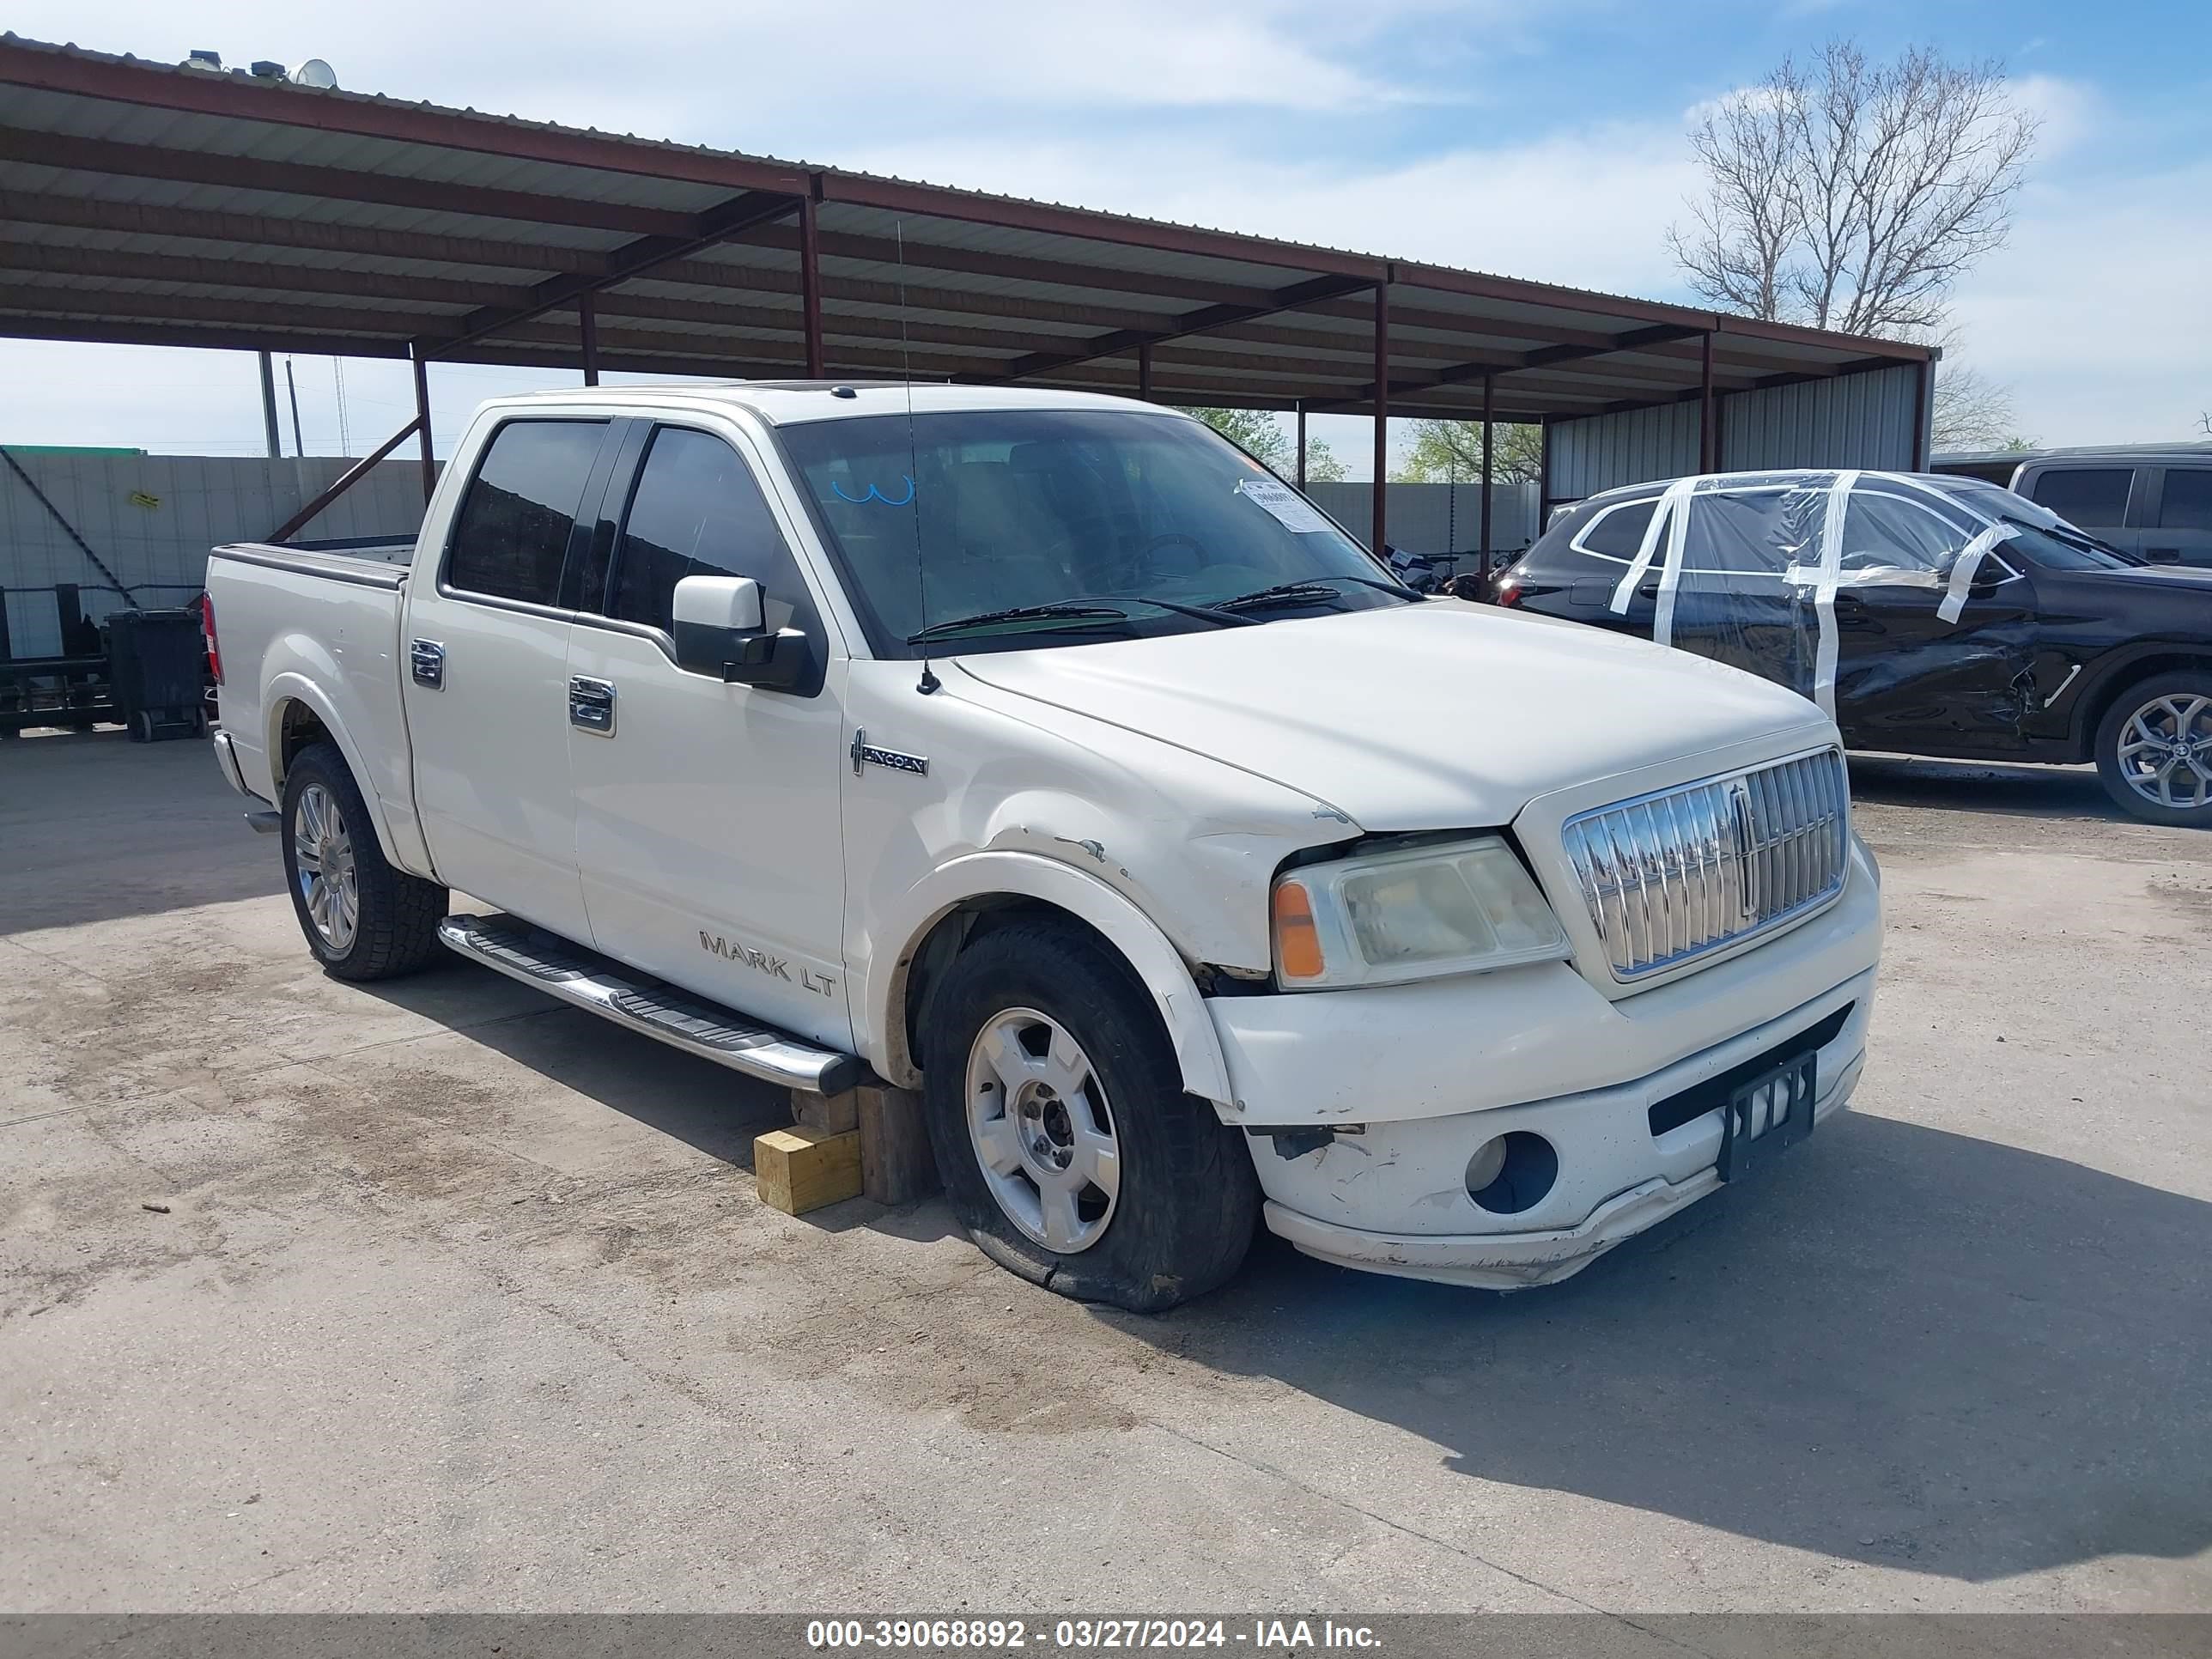
<svg viewBox="0 0 2212 1659">
<path fill-rule="evenodd" d="M 953 958 L 922 1099 L 953 1214 L 1022 1279 L 1157 1314 L 1243 1265 L 1243 1135 L 1183 1093 L 1150 998 L 1075 927 L 1013 922 Z"/>
</svg>

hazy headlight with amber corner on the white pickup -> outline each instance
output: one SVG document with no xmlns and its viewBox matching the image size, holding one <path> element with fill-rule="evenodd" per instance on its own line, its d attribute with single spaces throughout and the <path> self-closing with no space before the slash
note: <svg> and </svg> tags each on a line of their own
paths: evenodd
<svg viewBox="0 0 2212 1659">
<path fill-rule="evenodd" d="M 1557 956 L 1559 918 L 1498 836 L 1303 865 L 1274 883 L 1274 975 L 1290 991 Z"/>
</svg>

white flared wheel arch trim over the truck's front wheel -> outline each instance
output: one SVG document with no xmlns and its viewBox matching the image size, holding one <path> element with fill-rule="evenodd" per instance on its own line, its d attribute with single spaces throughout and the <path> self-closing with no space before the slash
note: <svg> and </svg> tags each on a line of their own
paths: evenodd
<svg viewBox="0 0 2212 1659">
<path fill-rule="evenodd" d="M 863 987 L 872 1064 L 891 1082 L 916 1086 L 914 1031 L 929 984 L 998 918 L 1040 914 L 1062 916 L 1097 938 L 1144 987 L 1168 1031 L 1186 1091 L 1221 1106 L 1234 1104 L 1221 1035 L 1181 951 L 1106 883 L 1024 852 L 956 858 L 905 896 L 902 920 L 878 933 L 898 945 L 874 951 Z"/>
</svg>

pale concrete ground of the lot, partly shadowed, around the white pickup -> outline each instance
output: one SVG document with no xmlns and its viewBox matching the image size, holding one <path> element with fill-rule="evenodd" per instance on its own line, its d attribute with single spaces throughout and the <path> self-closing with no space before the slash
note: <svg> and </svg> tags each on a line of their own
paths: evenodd
<svg viewBox="0 0 2212 1659">
<path fill-rule="evenodd" d="M 1856 768 L 1858 1110 L 1548 1292 L 1166 1318 L 453 962 L 314 971 L 199 743 L 0 745 L 0 1608 L 2212 1608 L 2212 836 Z M 150 1208 L 159 1206 L 159 1208 Z"/>
</svg>

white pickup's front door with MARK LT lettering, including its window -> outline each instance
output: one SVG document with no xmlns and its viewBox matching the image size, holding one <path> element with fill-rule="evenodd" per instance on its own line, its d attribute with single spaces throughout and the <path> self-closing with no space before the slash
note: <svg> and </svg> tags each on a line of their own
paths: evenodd
<svg viewBox="0 0 2212 1659">
<path fill-rule="evenodd" d="M 602 951 L 845 1048 L 843 664 L 741 445 L 659 425 L 626 502 L 608 493 L 613 568 L 566 657 L 577 869 Z M 677 668 L 686 575 L 754 577 L 768 626 L 807 635 L 799 686 Z"/>
</svg>

